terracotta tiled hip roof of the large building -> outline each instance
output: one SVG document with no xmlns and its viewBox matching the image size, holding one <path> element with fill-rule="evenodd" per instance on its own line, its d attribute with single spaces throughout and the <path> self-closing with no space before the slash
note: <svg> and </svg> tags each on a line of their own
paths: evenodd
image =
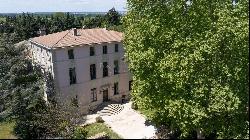
<svg viewBox="0 0 250 140">
<path fill-rule="evenodd" d="M 73 32 L 73 29 L 66 30 L 35 37 L 32 38 L 31 41 L 45 45 L 49 48 L 122 41 L 122 33 L 102 28 L 77 29 L 77 36 L 74 36 Z"/>
</svg>

